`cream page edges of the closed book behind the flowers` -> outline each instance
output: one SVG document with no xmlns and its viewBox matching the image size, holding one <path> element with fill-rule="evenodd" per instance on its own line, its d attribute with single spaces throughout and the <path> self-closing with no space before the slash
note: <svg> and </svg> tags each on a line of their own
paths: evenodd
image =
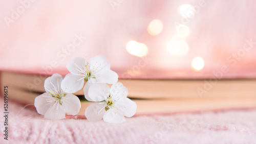
<svg viewBox="0 0 256 144">
<path fill-rule="evenodd" d="M 56 73 L 65 76 L 67 71 Z M 0 84 L 8 85 L 10 100 L 33 105 L 34 99 L 45 92 L 44 81 L 49 76 L 1 71 Z M 127 97 L 136 102 L 136 115 L 256 108 L 256 79 L 119 79 L 119 82 L 129 90 Z M 82 90 L 74 94 L 81 101 L 77 115 L 84 115 L 93 102 L 84 99 Z"/>
</svg>

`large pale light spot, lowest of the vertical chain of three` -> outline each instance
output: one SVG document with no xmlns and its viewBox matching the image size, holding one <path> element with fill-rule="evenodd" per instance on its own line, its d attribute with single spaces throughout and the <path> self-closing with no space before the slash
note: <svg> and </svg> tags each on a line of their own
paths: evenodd
<svg viewBox="0 0 256 144">
<path fill-rule="evenodd" d="M 167 43 L 167 51 L 172 55 L 185 56 L 189 51 L 189 47 L 185 40 L 172 39 Z"/>
</svg>

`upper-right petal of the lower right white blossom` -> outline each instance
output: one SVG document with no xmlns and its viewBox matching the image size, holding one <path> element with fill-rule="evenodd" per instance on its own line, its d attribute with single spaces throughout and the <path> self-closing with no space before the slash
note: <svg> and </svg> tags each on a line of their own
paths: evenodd
<svg viewBox="0 0 256 144">
<path fill-rule="evenodd" d="M 113 99 L 120 99 L 120 98 L 126 98 L 127 94 L 128 94 L 128 89 L 123 86 L 122 83 L 114 83 L 111 87 L 110 87 L 110 93 L 111 93 L 111 97 Z"/>
</svg>

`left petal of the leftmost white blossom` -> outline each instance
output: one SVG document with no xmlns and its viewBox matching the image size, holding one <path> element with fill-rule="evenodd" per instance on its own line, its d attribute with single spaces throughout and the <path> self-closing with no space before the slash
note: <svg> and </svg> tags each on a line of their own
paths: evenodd
<svg viewBox="0 0 256 144">
<path fill-rule="evenodd" d="M 46 99 L 51 99 L 52 95 L 48 94 L 47 92 L 42 93 L 41 95 L 35 98 L 35 108 L 36 111 L 41 114 L 45 115 L 46 111 L 54 104 L 53 102 L 46 102 Z"/>
</svg>

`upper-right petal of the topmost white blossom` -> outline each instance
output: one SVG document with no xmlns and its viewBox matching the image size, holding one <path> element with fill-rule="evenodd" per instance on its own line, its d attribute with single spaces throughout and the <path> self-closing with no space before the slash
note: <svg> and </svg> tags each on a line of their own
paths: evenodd
<svg viewBox="0 0 256 144">
<path fill-rule="evenodd" d="M 93 71 L 94 74 L 104 68 L 110 69 L 110 61 L 106 59 L 105 56 L 101 55 L 92 57 L 88 65 L 90 66 L 90 70 Z"/>
</svg>

